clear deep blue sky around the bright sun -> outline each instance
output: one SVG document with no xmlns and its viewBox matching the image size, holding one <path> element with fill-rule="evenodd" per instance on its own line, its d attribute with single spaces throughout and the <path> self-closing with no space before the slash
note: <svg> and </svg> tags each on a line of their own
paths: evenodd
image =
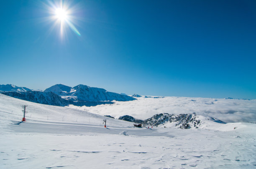
<svg viewBox="0 0 256 169">
<path fill-rule="evenodd" d="M 59 2 L 1 1 L 0 84 L 256 99 L 255 0 Z"/>
</svg>

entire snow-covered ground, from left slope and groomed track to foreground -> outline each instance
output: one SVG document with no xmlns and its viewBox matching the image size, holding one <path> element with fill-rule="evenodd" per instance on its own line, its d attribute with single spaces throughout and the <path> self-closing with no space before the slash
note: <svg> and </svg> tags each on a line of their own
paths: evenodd
<svg viewBox="0 0 256 169">
<path fill-rule="evenodd" d="M 24 104 L 28 113 L 26 122 L 20 122 Z M 131 122 L 3 94 L 0 115 L 4 169 L 256 167 L 256 124 L 252 123 L 221 127 L 215 122 L 227 132 L 136 128 Z M 102 119 L 107 119 L 107 128 Z"/>
</svg>

